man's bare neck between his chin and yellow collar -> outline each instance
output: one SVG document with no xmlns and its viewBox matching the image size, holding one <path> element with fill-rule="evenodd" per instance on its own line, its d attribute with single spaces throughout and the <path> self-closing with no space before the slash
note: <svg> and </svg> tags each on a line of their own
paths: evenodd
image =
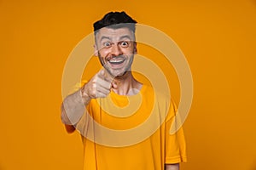
<svg viewBox="0 0 256 170">
<path fill-rule="evenodd" d="M 143 86 L 132 76 L 131 71 L 127 71 L 122 77 L 115 77 L 113 83 L 117 87 L 113 88 L 113 92 L 119 95 L 135 95 Z"/>
</svg>

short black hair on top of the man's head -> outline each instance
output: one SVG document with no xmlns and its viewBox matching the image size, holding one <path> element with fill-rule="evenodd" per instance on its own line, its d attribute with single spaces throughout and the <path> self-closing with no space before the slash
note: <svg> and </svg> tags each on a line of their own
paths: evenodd
<svg viewBox="0 0 256 170">
<path fill-rule="evenodd" d="M 131 16 L 126 14 L 124 11 L 122 12 L 110 12 L 105 14 L 102 20 L 98 20 L 93 24 L 94 33 L 100 30 L 103 27 L 109 27 L 113 29 L 118 29 L 122 27 L 127 27 L 131 31 L 135 32 L 135 24 L 136 20 L 133 20 Z"/>
</svg>

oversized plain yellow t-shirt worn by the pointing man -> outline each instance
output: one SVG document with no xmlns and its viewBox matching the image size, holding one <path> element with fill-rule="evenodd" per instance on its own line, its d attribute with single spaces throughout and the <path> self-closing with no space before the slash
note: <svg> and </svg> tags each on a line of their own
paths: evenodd
<svg viewBox="0 0 256 170">
<path fill-rule="evenodd" d="M 143 85 L 140 93 L 91 99 L 77 124 L 84 144 L 84 170 L 164 170 L 186 161 L 183 129 L 170 134 L 177 108 Z"/>
</svg>

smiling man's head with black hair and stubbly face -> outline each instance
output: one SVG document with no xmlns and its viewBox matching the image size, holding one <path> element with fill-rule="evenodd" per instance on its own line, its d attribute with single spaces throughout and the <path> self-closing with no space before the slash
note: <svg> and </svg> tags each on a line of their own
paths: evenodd
<svg viewBox="0 0 256 170">
<path fill-rule="evenodd" d="M 125 12 L 111 12 L 94 23 L 95 54 L 113 77 L 121 77 L 131 69 L 137 53 L 135 25 Z"/>
</svg>

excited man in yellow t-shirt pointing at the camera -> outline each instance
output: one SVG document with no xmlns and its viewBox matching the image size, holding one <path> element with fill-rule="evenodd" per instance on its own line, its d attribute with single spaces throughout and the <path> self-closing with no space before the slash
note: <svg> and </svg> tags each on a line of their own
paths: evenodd
<svg viewBox="0 0 256 170">
<path fill-rule="evenodd" d="M 94 24 L 95 54 L 103 69 L 61 105 L 67 132 L 78 129 L 82 135 L 86 170 L 177 170 L 186 161 L 183 130 L 169 134 L 174 103 L 132 76 L 136 23 L 125 12 L 111 12 Z M 107 135 L 101 126 L 115 131 Z"/>
</svg>

